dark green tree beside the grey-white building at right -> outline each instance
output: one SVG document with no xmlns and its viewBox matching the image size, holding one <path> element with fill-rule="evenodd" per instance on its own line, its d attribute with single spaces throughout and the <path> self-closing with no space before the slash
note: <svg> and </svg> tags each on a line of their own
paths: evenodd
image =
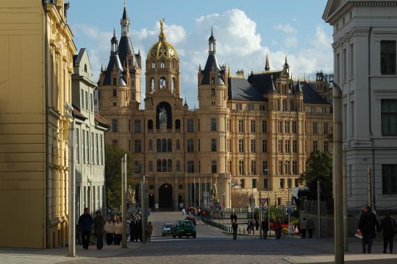
<svg viewBox="0 0 397 264">
<path fill-rule="evenodd" d="M 306 161 L 306 171 L 299 176 L 299 183 L 309 187 L 308 191 L 299 191 L 298 196 L 307 196 L 317 200 L 317 180 L 320 180 L 321 201 L 332 200 L 332 157 L 327 151 L 312 152 Z"/>
</svg>

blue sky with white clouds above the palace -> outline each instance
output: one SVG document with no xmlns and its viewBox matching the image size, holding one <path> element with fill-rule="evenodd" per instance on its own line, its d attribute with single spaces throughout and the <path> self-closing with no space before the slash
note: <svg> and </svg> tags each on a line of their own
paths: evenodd
<svg viewBox="0 0 397 264">
<path fill-rule="evenodd" d="M 322 19 L 327 0 L 127 0 L 130 37 L 142 56 L 142 91 L 146 54 L 158 41 L 159 20 L 165 19 L 167 41 L 180 58 L 181 93 L 190 108 L 198 106 L 198 65 L 205 65 L 211 26 L 217 59 L 231 72 L 282 68 L 288 58 L 293 77 L 309 79 L 333 70 L 332 27 Z M 70 0 L 68 24 L 77 49 L 85 47 L 98 80 L 109 62 L 113 28 L 120 39 L 124 0 Z M 313 78 L 313 77 L 312 77 Z"/>
</svg>

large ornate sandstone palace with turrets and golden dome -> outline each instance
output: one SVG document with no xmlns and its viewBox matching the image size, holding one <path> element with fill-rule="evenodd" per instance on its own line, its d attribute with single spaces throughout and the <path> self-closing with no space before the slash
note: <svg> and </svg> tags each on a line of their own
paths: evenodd
<svg viewBox="0 0 397 264">
<path fill-rule="evenodd" d="M 222 208 L 258 205 L 268 189 L 271 205 L 285 204 L 311 151 L 332 149 L 327 75 L 294 81 L 287 58 L 273 70 L 267 55 L 262 71 L 231 75 L 217 61 L 211 32 L 207 61 L 198 67 L 199 107 L 192 110 L 181 96 L 178 51 L 160 25 L 146 55 L 143 109 L 141 54 L 130 40 L 126 8 L 120 42 L 114 32 L 100 73 L 98 107 L 111 123 L 105 137 L 131 153 L 130 184 L 146 176 L 152 208 L 207 205 L 214 185 Z"/>
</svg>

